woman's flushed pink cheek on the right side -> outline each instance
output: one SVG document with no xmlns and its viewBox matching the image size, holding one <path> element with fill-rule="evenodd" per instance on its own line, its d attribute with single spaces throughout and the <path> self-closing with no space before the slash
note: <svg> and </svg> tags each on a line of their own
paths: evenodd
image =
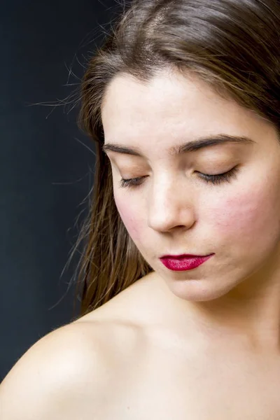
<svg viewBox="0 0 280 420">
<path fill-rule="evenodd" d="M 253 251 L 256 246 L 267 249 L 279 240 L 279 196 L 276 189 L 267 190 L 260 184 L 239 190 L 216 202 L 215 208 L 206 208 L 206 223 L 214 228 L 217 238 L 238 246 L 240 253 Z"/>
</svg>

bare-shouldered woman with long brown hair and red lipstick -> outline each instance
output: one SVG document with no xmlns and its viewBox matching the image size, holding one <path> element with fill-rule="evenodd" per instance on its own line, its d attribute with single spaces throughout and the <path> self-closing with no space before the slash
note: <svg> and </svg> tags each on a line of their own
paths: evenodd
<svg viewBox="0 0 280 420">
<path fill-rule="evenodd" d="M 279 27 L 274 0 L 121 16 L 82 84 L 81 314 L 15 364 L 2 420 L 280 419 Z"/>
</svg>

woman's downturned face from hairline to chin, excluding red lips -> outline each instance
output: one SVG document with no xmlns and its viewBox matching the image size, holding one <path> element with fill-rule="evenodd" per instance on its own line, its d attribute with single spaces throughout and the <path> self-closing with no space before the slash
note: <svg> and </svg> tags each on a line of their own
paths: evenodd
<svg viewBox="0 0 280 420">
<path fill-rule="evenodd" d="M 175 295 L 212 300 L 279 269 L 280 147 L 274 126 L 222 99 L 197 78 L 162 73 L 149 85 L 130 76 L 111 81 L 102 106 L 105 145 L 120 217 L 145 260 Z M 212 144 L 180 154 L 172 148 L 211 137 L 251 141 Z M 203 174 L 228 174 L 216 183 Z M 122 179 L 140 178 L 135 186 Z M 165 254 L 208 255 L 174 272 Z M 268 273 L 268 271 L 267 271 Z M 261 279 L 263 281 L 263 279 Z M 246 282 L 245 282 L 246 283 Z"/>
</svg>

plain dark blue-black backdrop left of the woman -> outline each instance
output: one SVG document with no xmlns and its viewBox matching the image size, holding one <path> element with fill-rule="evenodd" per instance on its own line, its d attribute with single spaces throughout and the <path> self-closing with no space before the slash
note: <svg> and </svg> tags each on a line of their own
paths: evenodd
<svg viewBox="0 0 280 420">
<path fill-rule="evenodd" d="M 94 145 L 76 125 L 79 104 L 55 105 L 71 102 L 85 57 L 120 7 L 113 0 L 1 2 L 0 380 L 73 316 L 69 282 L 78 255 L 66 262 L 87 213 Z"/>
</svg>

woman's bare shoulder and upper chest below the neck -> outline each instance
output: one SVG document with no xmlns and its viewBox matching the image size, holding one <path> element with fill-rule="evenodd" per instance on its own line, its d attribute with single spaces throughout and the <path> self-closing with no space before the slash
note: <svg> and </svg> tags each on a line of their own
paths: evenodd
<svg viewBox="0 0 280 420">
<path fill-rule="evenodd" d="M 191 311 L 180 325 L 164 286 L 148 274 L 39 340 L 0 386 L 1 419 L 279 420 L 279 352 Z"/>
</svg>

